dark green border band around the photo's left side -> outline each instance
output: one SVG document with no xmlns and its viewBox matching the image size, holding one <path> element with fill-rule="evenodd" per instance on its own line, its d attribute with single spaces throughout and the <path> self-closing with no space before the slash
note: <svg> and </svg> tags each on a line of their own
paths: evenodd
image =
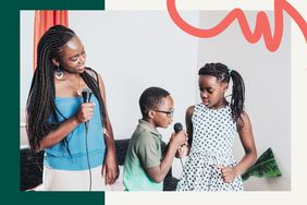
<svg viewBox="0 0 307 205">
<path fill-rule="evenodd" d="M 20 191 L 20 11 L 105 10 L 103 0 L 7 0 L 1 7 L 1 196 L 8 204 L 105 205 L 105 192 Z"/>
</svg>

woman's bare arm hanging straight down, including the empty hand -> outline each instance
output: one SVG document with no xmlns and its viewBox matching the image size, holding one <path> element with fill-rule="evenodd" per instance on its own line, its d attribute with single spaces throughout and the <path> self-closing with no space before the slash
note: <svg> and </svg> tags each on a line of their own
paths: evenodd
<svg viewBox="0 0 307 205">
<path fill-rule="evenodd" d="M 106 183 L 113 184 L 115 180 L 119 178 L 119 167 L 115 155 L 115 143 L 113 137 L 113 129 L 108 116 L 107 109 L 107 99 L 106 99 L 106 89 L 102 77 L 98 74 L 99 77 L 99 88 L 101 93 L 101 97 L 105 102 L 105 112 L 106 112 L 106 132 L 105 132 L 105 142 L 107 146 L 107 154 L 105 157 L 105 165 L 102 166 L 102 176 L 106 174 Z"/>
</svg>

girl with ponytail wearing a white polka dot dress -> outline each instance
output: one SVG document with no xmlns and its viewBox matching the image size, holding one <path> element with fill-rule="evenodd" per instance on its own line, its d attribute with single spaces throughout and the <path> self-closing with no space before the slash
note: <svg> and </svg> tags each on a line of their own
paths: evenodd
<svg viewBox="0 0 307 205">
<path fill-rule="evenodd" d="M 199 72 L 201 102 L 186 111 L 188 145 L 177 156 L 188 155 L 177 191 L 242 191 L 241 174 L 257 158 L 251 123 L 244 111 L 244 82 L 222 63 L 206 63 Z M 225 92 L 232 80 L 232 98 Z M 245 156 L 236 162 L 234 138 L 241 138 Z"/>
</svg>

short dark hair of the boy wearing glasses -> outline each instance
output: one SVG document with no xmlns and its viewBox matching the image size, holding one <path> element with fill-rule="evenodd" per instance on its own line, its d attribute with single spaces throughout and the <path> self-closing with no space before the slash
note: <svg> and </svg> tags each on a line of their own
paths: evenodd
<svg viewBox="0 0 307 205">
<path fill-rule="evenodd" d="M 147 117 L 150 109 L 157 109 L 162 102 L 162 98 L 170 93 L 161 87 L 148 87 L 139 97 L 139 108 L 143 117 Z"/>
</svg>

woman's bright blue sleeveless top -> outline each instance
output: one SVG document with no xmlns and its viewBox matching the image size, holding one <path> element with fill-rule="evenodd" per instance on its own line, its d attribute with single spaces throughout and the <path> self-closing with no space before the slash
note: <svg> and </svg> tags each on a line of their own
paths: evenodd
<svg viewBox="0 0 307 205">
<path fill-rule="evenodd" d="M 94 114 L 88 122 L 87 147 L 90 168 L 101 166 L 105 160 L 106 144 L 102 132 L 99 101 L 93 95 L 91 102 L 95 102 Z M 56 106 L 66 118 L 75 116 L 83 104 L 79 97 L 56 97 Z M 60 122 L 65 119 L 57 112 Z M 51 118 L 51 121 L 54 119 Z M 45 164 L 52 169 L 61 170 L 86 170 L 88 169 L 86 150 L 85 123 L 77 125 L 67 136 L 66 144 L 62 141 L 52 147 L 45 149 Z M 70 153 L 67 150 L 70 149 Z"/>
</svg>

